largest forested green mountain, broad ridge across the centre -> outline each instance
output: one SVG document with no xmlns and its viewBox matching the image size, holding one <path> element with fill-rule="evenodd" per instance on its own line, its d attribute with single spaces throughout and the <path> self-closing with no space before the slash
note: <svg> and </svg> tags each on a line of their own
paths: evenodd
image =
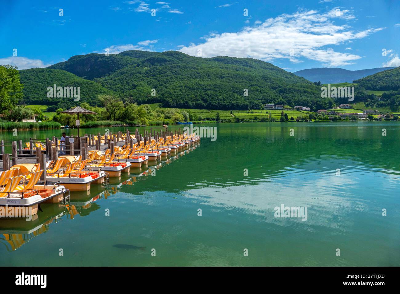
<svg viewBox="0 0 400 294">
<path fill-rule="evenodd" d="M 312 109 L 328 109 L 334 103 L 331 98 L 321 99 L 320 88 L 306 79 L 252 58 L 200 58 L 177 51 L 132 50 L 109 56 L 73 56 L 50 69 L 92 80 L 139 104 L 247 110 L 268 102 Z"/>
</svg>

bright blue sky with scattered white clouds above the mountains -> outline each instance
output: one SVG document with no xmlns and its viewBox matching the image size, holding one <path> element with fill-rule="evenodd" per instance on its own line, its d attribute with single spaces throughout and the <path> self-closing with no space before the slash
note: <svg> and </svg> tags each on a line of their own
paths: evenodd
<svg viewBox="0 0 400 294">
<path fill-rule="evenodd" d="M 290 72 L 400 66 L 399 0 L 13 0 L 0 9 L 0 64 L 20 69 L 107 48 L 251 57 Z"/>
</svg>

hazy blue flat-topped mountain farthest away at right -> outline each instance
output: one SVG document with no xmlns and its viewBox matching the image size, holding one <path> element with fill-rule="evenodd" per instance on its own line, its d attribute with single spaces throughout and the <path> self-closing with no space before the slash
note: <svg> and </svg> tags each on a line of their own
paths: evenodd
<svg viewBox="0 0 400 294">
<path fill-rule="evenodd" d="M 310 68 L 307 70 L 299 70 L 294 74 L 301 76 L 310 82 L 318 82 L 321 84 L 351 83 L 353 80 L 364 78 L 377 72 L 390 70 L 393 67 L 371 68 L 367 70 L 345 70 L 343 68 Z"/>
</svg>

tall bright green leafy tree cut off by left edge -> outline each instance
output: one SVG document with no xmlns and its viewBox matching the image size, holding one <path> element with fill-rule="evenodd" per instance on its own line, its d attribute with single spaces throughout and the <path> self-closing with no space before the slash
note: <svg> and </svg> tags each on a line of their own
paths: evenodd
<svg viewBox="0 0 400 294">
<path fill-rule="evenodd" d="M 24 94 L 22 90 L 24 85 L 20 83 L 20 74 L 16 66 L 4 65 L 0 66 L 0 112 L 5 113 L 6 110 L 16 105 Z"/>
</svg>

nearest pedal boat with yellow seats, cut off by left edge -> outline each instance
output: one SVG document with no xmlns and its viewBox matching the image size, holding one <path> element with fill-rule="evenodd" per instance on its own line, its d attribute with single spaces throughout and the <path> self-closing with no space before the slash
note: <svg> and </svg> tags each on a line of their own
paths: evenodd
<svg viewBox="0 0 400 294">
<path fill-rule="evenodd" d="M 62 185 L 38 184 L 44 170 L 29 174 L 18 174 L 18 169 L 10 170 L 13 172 L 6 171 L 0 175 L 0 206 L 7 210 L 8 216 L 26 217 L 26 208 L 34 215 L 38 212 L 39 204 L 65 203 L 69 197 L 68 189 Z"/>
</svg>

